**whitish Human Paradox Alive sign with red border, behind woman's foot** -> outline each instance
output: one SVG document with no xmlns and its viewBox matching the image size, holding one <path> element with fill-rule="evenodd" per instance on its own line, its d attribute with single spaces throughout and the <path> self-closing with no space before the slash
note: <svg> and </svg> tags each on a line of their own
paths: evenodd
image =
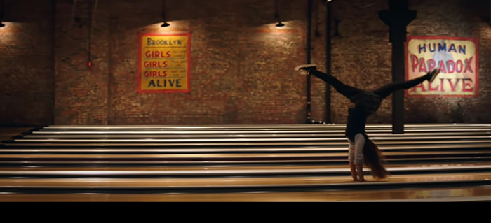
<svg viewBox="0 0 491 223">
<path fill-rule="evenodd" d="M 406 96 L 478 96 L 478 39 L 443 36 L 408 36 L 405 79 L 440 74 L 408 89 Z"/>
</svg>

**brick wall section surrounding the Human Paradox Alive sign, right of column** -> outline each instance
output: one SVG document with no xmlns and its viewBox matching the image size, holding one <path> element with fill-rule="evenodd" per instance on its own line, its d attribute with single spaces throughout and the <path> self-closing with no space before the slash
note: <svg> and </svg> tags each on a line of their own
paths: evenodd
<svg viewBox="0 0 491 223">
<path fill-rule="evenodd" d="M 405 122 L 491 122 L 491 24 L 490 1 L 414 1 L 418 19 L 408 34 L 476 37 L 479 43 L 479 92 L 477 98 L 406 99 Z M 439 8 L 439 10 L 434 10 Z M 484 10 L 483 10 L 484 9 Z M 482 15 L 487 16 L 485 20 Z"/>
</svg>

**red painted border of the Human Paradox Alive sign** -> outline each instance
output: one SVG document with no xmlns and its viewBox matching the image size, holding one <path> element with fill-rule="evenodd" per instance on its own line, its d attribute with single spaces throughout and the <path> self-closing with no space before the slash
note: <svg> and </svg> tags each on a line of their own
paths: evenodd
<svg viewBox="0 0 491 223">
<path fill-rule="evenodd" d="M 473 38 L 473 37 L 455 37 L 455 36 L 408 36 L 406 38 L 405 42 L 405 47 L 404 47 L 404 53 L 405 53 L 405 80 L 408 81 L 408 76 L 409 76 L 409 64 L 408 64 L 408 57 L 409 57 L 409 52 L 408 52 L 408 43 L 412 39 L 448 39 L 448 40 L 459 40 L 459 41 L 471 41 L 474 43 L 476 46 L 476 94 L 473 95 L 410 95 L 408 93 L 408 90 L 405 91 L 405 97 L 408 98 L 422 98 L 422 97 L 429 97 L 429 98 L 435 98 L 435 97 L 443 97 L 443 98 L 477 98 L 479 96 L 479 38 Z"/>
</svg>

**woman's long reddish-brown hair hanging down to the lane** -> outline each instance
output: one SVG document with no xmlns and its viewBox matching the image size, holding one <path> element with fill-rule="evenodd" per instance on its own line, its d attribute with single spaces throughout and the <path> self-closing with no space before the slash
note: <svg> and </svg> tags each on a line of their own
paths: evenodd
<svg viewBox="0 0 491 223">
<path fill-rule="evenodd" d="M 382 153 L 380 152 L 377 145 L 373 143 L 370 139 L 365 141 L 365 145 L 363 146 L 363 159 L 365 161 L 365 165 L 370 168 L 372 175 L 374 178 L 385 179 L 390 173 L 384 167 Z"/>
</svg>

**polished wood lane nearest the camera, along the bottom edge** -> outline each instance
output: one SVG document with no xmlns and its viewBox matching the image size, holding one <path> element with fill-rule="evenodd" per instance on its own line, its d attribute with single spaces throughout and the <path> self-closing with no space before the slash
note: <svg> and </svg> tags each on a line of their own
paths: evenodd
<svg viewBox="0 0 491 223">
<path fill-rule="evenodd" d="M 0 194 L 0 201 L 491 201 L 491 187 L 214 194 Z"/>
</svg>

